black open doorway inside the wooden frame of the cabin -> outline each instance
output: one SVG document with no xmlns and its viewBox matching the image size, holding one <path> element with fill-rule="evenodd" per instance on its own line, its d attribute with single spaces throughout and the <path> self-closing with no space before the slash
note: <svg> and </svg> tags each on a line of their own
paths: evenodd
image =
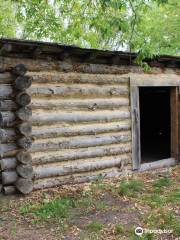
<svg viewBox="0 0 180 240">
<path fill-rule="evenodd" d="M 169 87 L 140 87 L 141 163 L 171 157 Z"/>
</svg>

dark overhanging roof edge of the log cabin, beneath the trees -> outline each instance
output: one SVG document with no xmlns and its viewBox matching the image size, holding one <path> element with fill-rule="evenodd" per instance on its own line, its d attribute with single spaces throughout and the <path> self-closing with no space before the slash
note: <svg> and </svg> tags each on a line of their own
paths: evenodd
<svg viewBox="0 0 180 240">
<path fill-rule="evenodd" d="M 0 48 L 3 46 L 6 46 L 8 49 L 8 56 L 18 56 L 20 58 L 45 58 L 61 61 L 71 59 L 75 62 L 95 64 L 136 65 L 135 59 L 137 57 L 137 53 L 86 49 L 58 43 L 0 38 Z M 0 51 L 0 55 L 2 55 L 2 51 Z M 145 61 L 150 66 L 155 67 L 180 67 L 180 57 L 175 56 L 161 55 Z"/>
</svg>

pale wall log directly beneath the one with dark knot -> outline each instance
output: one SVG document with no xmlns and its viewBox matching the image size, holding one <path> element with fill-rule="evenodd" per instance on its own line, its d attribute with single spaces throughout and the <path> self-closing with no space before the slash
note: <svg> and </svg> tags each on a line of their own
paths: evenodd
<svg viewBox="0 0 180 240">
<path fill-rule="evenodd" d="M 106 121 L 110 122 L 117 119 L 128 119 L 130 118 L 130 111 L 117 110 L 117 111 L 98 111 L 98 112 L 63 112 L 63 111 L 34 111 L 32 116 L 32 122 L 36 125 L 43 125 L 53 122 L 89 122 L 89 121 Z"/>
</svg>

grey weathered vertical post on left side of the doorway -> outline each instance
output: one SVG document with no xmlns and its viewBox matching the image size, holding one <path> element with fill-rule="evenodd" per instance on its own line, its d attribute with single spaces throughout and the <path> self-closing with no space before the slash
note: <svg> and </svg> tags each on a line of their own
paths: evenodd
<svg viewBox="0 0 180 240">
<path fill-rule="evenodd" d="M 132 119 L 132 162 L 133 170 L 137 170 L 140 168 L 141 163 L 139 88 L 138 86 L 130 86 L 130 90 Z"/>
</svg>

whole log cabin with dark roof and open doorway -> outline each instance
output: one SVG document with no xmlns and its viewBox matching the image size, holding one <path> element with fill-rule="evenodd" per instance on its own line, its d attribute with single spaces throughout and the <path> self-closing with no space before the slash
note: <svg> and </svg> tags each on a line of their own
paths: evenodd
<svg viewBox="0 0 180 240">
<path fill-rule="evenodd" d="M 180 57 L 0 39 L 0 190 L 179 163 Z"/>
</svg>

